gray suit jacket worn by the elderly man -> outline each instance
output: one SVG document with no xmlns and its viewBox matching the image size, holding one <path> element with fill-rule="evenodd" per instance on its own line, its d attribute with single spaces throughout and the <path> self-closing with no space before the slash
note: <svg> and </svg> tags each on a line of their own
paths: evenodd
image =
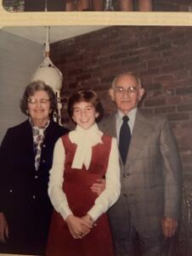
<svg viewBox="0 0 192 256">
<path fill-rule="evenodd" d="M 116 137 L 115 115 L 99 126 Z M 121 196 L 109 211 L 113 235 L 125 237 L 130 221 L 139 233 L 152 235 L 161 232 L 163 217 L 179 219 L 181 164 L 166 118 L 137 111 L 127 162 L 120 164 Z"/>
</svg>

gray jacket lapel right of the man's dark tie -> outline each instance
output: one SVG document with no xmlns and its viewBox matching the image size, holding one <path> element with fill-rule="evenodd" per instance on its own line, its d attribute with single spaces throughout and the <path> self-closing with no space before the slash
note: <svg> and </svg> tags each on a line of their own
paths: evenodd
<svg viewBox="0 0 192 256">
<path fill-rule="evenodd" d="M 137 157 L 140 151 L 144 149 L 145 142 L 147 139 L 149 139 L 153 129 L 154 128 L 150 126 L 150 122 L 148 121 L 148 119 L 144 117 L 140 111 L 137 111 L 133 127 L 132 139 L 129 145 L 129 151 L 127 155 L 127 170 L 130 170 L 133 163 L 137 161 Z"/>
</svg>

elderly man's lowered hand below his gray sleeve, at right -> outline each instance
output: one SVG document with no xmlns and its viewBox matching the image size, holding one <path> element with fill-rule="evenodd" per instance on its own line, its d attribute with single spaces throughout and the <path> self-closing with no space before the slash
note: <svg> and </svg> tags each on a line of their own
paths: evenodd
<svg viewBox="0 0 192 256">
<path fill-rule="evenodd" d="M 178 228 L 178 220 L 172 218 L 162 219 L 162 230 L 163 234 L 166 237 L 172 237 L 175 235 L 175 232 Z"/>
</svg>

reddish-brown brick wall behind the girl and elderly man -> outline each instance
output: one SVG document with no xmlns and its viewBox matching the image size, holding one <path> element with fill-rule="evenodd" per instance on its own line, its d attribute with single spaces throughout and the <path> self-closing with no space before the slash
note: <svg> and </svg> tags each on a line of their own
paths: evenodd
<svg viewBox="0 0 192 256">
<path fill-rule="evenodd" d="M 183 162 L 184 185 L 192 201 L 192 28 L 111 26 L 54 43 L 51 54 L 64 74 L 61 97 L 65 123 L 69 122 L 67 98 L 74 90 L 93 88 L 107 114 L 115 110 L 108 95 L 113 77 L 137 71 L 147 91 L 141 107 L 154 115 L 166 115 L 172 124 Z M 184 216 L 188 213 L 185 204 Z M 181 238 L 184 248 L 189 239 L 186 221 Z"/>
</svg>

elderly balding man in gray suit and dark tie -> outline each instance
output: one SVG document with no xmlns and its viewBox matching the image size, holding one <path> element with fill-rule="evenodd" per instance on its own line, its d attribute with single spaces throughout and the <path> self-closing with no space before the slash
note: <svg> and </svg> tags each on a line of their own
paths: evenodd
<svg viewBox="0 0 192 256">
<path fill-rule="evenodd" d="M 119 141 L 121 196 L 110 208 L 116 256 L 167 255 L 181 213 L 181 164 L 165 117 L 144 115 L 144 88 L 124 73 L 110 88 L 116 115 L 101 123 Z"/>
</svg>

